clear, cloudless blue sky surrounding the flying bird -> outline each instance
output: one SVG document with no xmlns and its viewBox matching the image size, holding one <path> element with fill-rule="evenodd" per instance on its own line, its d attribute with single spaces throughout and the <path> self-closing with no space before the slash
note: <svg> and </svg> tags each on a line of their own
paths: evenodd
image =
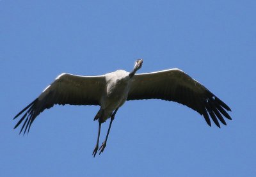
<svg viewBox="0 0 256 177">
<path fill-rule="evenodd" d="M 0 176 L 255 176 L 255 2 L 0 1 Z M 55 106 L 29 135 L 13 130 L 60 73 L 131 71 L 138 58 L 140 73 L 184 70 L 233 121 L 208 127 L 174 102 L 126 102 L 95 158 L 97 106 Z"/>
</svg>

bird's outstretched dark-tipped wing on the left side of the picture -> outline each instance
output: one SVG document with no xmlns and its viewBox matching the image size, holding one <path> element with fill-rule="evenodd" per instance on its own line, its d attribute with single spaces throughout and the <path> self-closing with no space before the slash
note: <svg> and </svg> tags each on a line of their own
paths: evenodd
<svg viewBox="0 0 256 177">
<path fill-rule="evenodd" d="M 104 75 L 89 77 L 62 73 L 50 86 L 44 89 L 38 98 L 15 116 L 17 118 L 24 112 L 14 128 L 17 128 L 25 120 L 20 133 L 24 127 L 26 127 L 24 134 L 26 130 L 29 132 L 36 116 L 45 109 L 50 109 L 54 104 L 100 105 L 100 98 L 105 86 Z"/>
</svg>

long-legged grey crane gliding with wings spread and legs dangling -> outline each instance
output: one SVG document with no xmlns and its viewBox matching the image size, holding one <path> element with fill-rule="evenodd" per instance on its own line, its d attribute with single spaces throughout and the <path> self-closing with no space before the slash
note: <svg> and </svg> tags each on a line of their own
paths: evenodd
<svg viewBox="0 0 256 177">
<path fill-rule="evenodd" d="M 97 142 L 93 150 L 93 157 L 106 148 L 109 131 L 115 114 L 127 100 L 161 99 L 178 102 L 195 110 L 202 116 L 209 126 L 211 120 L 220 127 L 219 121 L 227 125 L 223 116 L 230 119 L 227 111 L 231 111 L 227 104 L 211 93 L 195 79 L 179 69 L 162 70 L 159 72 L 139 73 L 143 59 L 137 59 L 131 72 L 117 70 L 98 76 L 81 76 L 62 73 L 50 86 L 31 104 L 22 109 L 13 119 L 20 120 L 20 129 L 24 134 L 35 121 L 35 118 L 45 109 L 55 104 L 59 105 L 100 105 L 94 120 L 99 121 Z M 99 147 L 100 127 L 108 118 L 110 123 L 105 141 Z"/>
</svg>

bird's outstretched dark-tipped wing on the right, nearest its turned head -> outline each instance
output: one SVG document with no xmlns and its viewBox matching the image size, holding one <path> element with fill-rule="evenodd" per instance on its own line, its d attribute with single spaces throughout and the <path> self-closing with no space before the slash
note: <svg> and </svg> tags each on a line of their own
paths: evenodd
<svg viewBox="0 0 256 177">
<path fill-rule="evenodd" d="M 225 111 L 231 111 L 228 105 L 179 69 L 134 75 L 127 100 L 141 99 L 162 99 L 186 105 L 203 115 L 209 126 L 209 115 L 218 127 L 218 119 L 224 125 L 227 124 L 223 116 L 231 119 Z"/>
</svg>

